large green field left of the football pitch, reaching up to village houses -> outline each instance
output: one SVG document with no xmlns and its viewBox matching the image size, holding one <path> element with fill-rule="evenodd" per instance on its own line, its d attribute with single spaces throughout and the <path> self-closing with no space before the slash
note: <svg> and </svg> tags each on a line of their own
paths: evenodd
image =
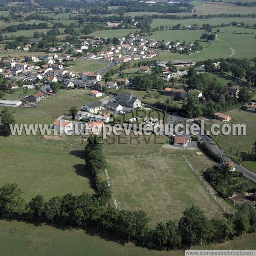
<svg viewBox="0 0 256 256">
<path fill-rule="evenodd" d="M 50 124 L 68 113 L 72 105 L 80 107 L 92 102 L 94 99 L 88 93 L 83 89 L 61 91 L 58 96 L 39 102 L 35 109 L 10 110 L 18 124 Z M 0 145 L 0 186 L 7 182 L 17 183 L 24 189 L 26 200 L 38 194 L 49 199 L 68 192 L 93 192 L 90 175 L 83 171 L 84 160 L 74 153 L 84 148 L 79 136 L 41 138 L 39 133 L 35 136 L 23 133 L 21 136 L 0 136 Z"/>
</svg>

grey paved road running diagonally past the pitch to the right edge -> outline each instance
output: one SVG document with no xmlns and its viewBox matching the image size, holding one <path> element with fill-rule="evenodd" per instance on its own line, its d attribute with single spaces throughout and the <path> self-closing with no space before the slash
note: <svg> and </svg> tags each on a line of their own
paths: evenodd
<svg viewBox="0 0 256 256">
<path fill-rule="evenodd" d="M 167 112 L 168 113 L 168 112 Z M 168 123 L 173 123 L 175 119 L 182 119 L 185 121 L 185 118 L 178 116 L 176 113 L 168 113 L 169 114 L 169 119 Z M 192 125 L 194 122 L 192 120 L 189 121 L 189 126 Z M 201 133 L 201 131 L 200 131 Z M 207 146 L 215 153 L 218 154 L 219 156 L 222 156 L 224 161 L 230 161 L 230 158 L 227 157 L 226 155 L 223 154 L 223 150 L 216 145 L 214 140 L 209 138 L 207 135 L 199 135 L 199 139 L 202 139 L 206 142 Z M 250 180 L 253 180 L 256 182 L 256 174 L 253 172 L 250 172 L 248 169 L 244 168 L 243 166 L 240 166 L 239 164 L 233 162 L 234 165 L 236 166 L 236 170 L 242 172 L 245 177 L 249 178 Z"/>
</svg>

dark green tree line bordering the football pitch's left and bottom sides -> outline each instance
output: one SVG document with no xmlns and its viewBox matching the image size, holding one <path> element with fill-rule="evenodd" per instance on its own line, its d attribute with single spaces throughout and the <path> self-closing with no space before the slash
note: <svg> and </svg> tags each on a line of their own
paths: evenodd
<svg viewBox="0 0 256 256">
<path fill-rule="evenodd" d="M 245 232 L 256 231 L 256 210 L 250 204 L 243 204 L 234 218 L 208 220 L 199 207 L 192 205 L 185 209 L 176 225 L 170 220 L 157 223 L 150 228 L 146 212 L 128 211 L 109 207 L 111 192 L 100 174 L 106 168 L 106 161 L 100 152 L 101 138 L 90 136 L 85 146 L 85 169 L 95 180 L 96 192 L 89 195 L 68 193 L 53 196 L 44 201 L 36 195 L 28 203 L 24 192 L 17 184 L 5 184 L 0 188 L 0 218 L 16 218 L 34 223 L 71 225 L 74 227 L 97 227 L 114 233 L 127 241 L 154 249 L 188 248 L 193 245 L 224 242 Z M 84 170 L 84 171 L 86 171 Z"/>
</svg>

